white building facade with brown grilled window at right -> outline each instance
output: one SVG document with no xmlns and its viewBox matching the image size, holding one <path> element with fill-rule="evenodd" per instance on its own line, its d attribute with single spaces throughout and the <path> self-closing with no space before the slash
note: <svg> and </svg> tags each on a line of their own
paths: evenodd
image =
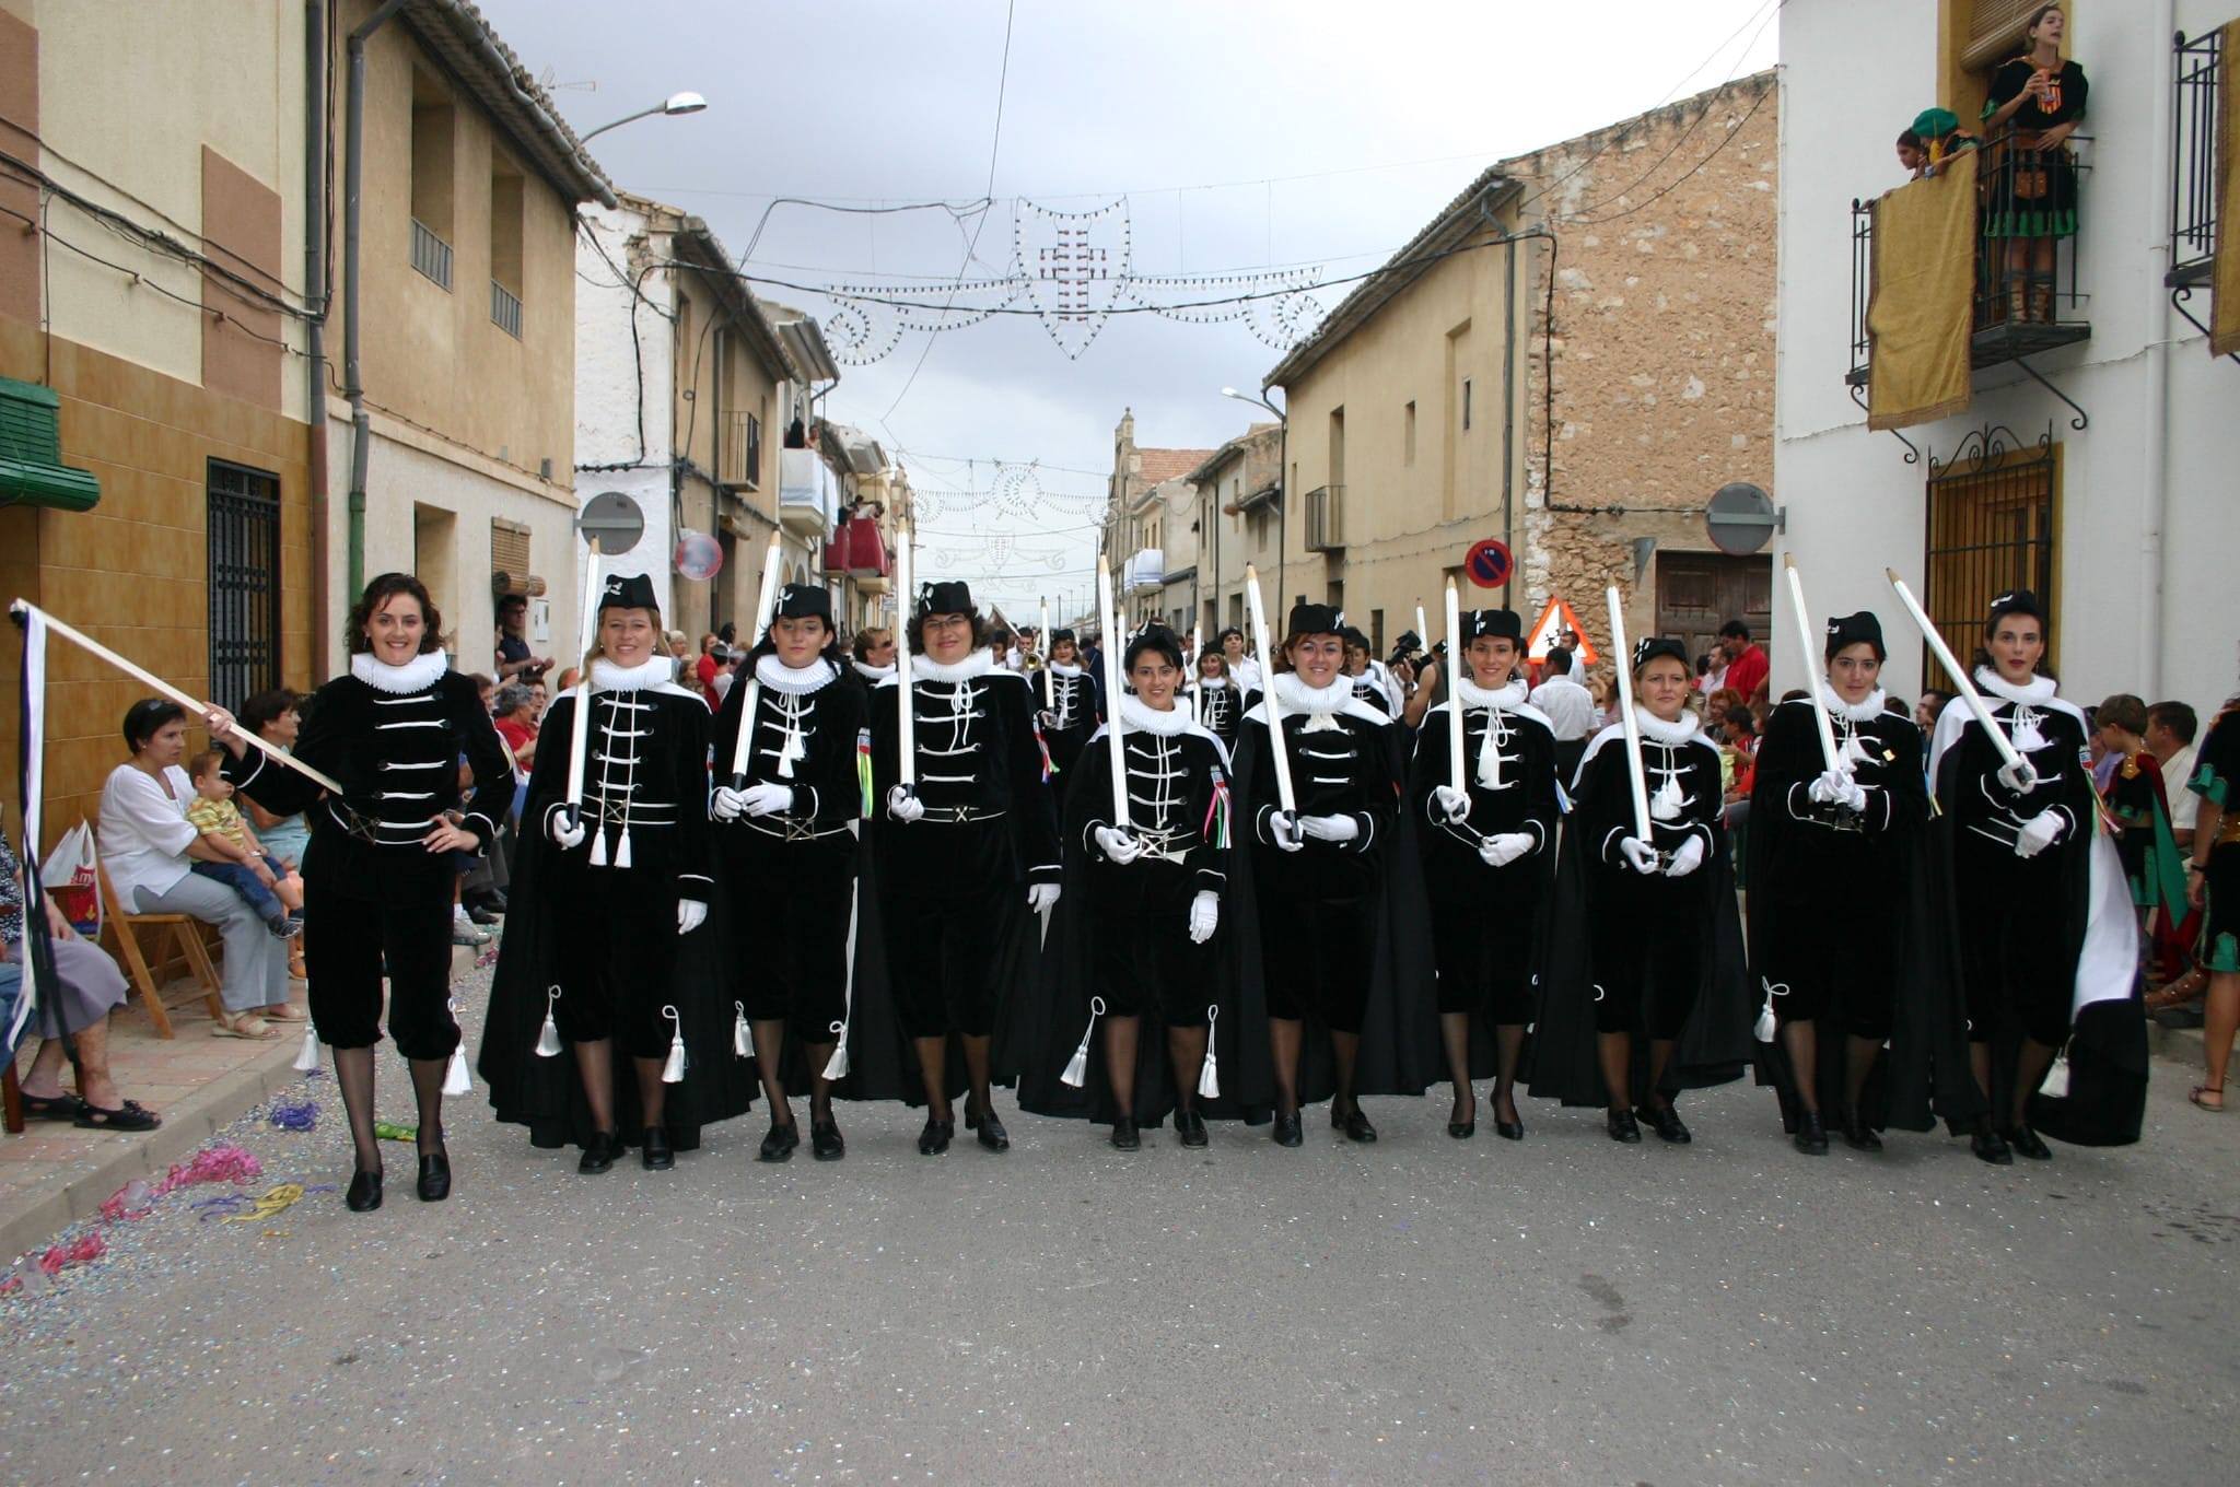
<svg viewBox="0 0 2240 1487">
<path fill-rule="evenodd" d="M 2236 692 L 2240 365 L 2213 358 L 2182 314 L 2209 320 L 2206 280 L 2182 302 L 2166 282 L 2173 269 L 2180 280 L 2200 273 L 2209 253 L 2206 235 L 2173 228 L 2173 215 L 2200 226 L 2200 206 L 2173 179 L 2200 161 L 2200 130 L 2215 119 L 2180 105 L 2177 69 L 2197 69 L 2202 54 L 2200 43 L 2173 47 L 2173 34 L 2231 20 L 2229 2 L 2068 7 L 2090 112 L 2076 132 L 2088 170 L 2079 233 L 2061 246 L 2059 329 L 1978 322 L 1969 410 L 1900 430 L 1904 443 L 1868 430 L 1852 396 L 1873 376 L 1866 349 L 1855 352 L 1866 284 L 1852 269 L 1852 199 L 1904 179 L 1893 137 L 1920 107 L 1956 107 L 1973 123 L 1971 107 L 1940 94 L 1956 92 L 1958 49 L 1978 9 L 1989 25 L 1991 4 L 1792 0 L 1781 13 L 1774 499 L 1785 531 L 1774 551 L 1796 558 L 1819 616 L 1884 618 L 1893 694 L 1913 699 L 1940 679 L 1924 674 L 1884 569 L 1951 620 L 1962 658 L 1985 593 L 2041 589 L 2065 696 L 2175 699 L 2206 721 Z M 1978 43 L 1978 56 L 1998 45 Z M 2175 213 L 2173 195 L 2184 197 Z M 1776 600 L 1776 694 L 1805 679 L 1794 634 Z"/>
</svg>

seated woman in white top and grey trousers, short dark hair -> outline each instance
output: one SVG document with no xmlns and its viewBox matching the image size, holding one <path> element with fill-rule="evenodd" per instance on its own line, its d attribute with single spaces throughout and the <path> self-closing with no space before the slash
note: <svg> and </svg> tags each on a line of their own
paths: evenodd
<svg viewBox="0 0 2240 1487">
<path fill-rule="evenodd" d="M 195 862 L 222 860 L 186 806 L 195 784 L 179 768 L 186 755 L 186 710 L 155 696 L 125 710 L 125 748 L 132 757 L 101 786 L 101 867 L 116 907 L 125 914 L 186 914 L 217 925 L 224 936 L 224 1008 L 217 1037 L 278 1037 L 271 1023 L 300 1023 L 287 999 L 287 941 L 264 932 L 264 920 L 233 889 L 195 876 Z"/>
</svg>

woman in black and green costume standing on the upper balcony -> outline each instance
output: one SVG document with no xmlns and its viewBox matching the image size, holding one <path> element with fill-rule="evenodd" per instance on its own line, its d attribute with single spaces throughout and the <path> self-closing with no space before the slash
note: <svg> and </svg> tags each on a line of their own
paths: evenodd
<svg viewBox="0 0 2240 1487">
<path fill-rule="evenodd" d="M 2041 4 L 2023 29 L 2023 56 L 1991 78 L 1987 132 L 2007 130 L 1985 199 L 1982 235 L 2007 240 L 2007 320 L 2054 318 L 2054 244 L 2076 235 L 2076 159 L 2068 150 L 2085 114 L 2085 69 L 2061 56 L 2068 16 Z"/>
</svg>

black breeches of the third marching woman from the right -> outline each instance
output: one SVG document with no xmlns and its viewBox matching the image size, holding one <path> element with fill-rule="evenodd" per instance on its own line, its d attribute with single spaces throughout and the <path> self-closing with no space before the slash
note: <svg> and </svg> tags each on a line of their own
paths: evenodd
<svg viewBox="0 0 2240 1487">
<path fill-rule="evenodd" d="M 1617 880 L 1588 896 L 1595 974 L 1595 1032 L 1646 1032 L 1678 1039 L 1702 985 L 1711 905 L 1680 880 Z M 1615 880 L 1617 873 L 1604 873 Z"/>
</svg>

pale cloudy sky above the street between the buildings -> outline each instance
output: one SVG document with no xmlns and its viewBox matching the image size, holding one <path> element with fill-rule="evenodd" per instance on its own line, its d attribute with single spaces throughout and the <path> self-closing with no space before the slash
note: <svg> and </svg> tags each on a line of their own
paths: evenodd
<svg viewBox="0 0 2240 1487">
<path fill-rule="evenodd" d="M 706 217 L 746 275 L 939 302 L 943 282 L 1010 271 L 1015 222 L 1039 224 L 1019 202 L 1122 204 L 1098 231 L 1124 224 L 1136 275 L 1364 273 L 1492 161 L 1770 67 L 1781 2 L 482 0 L 482 11 L 578 134 L 679 90 L 703 94 L 701 114 L 641 119 L 589 148 L 625 190 Z M 948 206 L 860 211 L 921 202 Z M 1030 235 L 1028 249 L 1044 242 Z M 820 320 L 836 309 L 773 282 L 753 289 Z M 1344 293 L 1317 300 L 1331 309 Z M 1033 623 L 1039 596 L 1071 614 L 1091 593 L 1122 410 L 1140 446 L 1214 448 L 1266 419 L 1221 387 L 1257 392 L 1277 361 L 1243 322 L 1118 316 L 1068 358 L 1039 318 L 990 318 L 905 331 L 885 358 L 844 365 L 824 414 L 909 470 L 921 578 L 965 578 L 981 602 Z M 990 499 L 997 486 L 1012 499 Z"/>
</svg>

